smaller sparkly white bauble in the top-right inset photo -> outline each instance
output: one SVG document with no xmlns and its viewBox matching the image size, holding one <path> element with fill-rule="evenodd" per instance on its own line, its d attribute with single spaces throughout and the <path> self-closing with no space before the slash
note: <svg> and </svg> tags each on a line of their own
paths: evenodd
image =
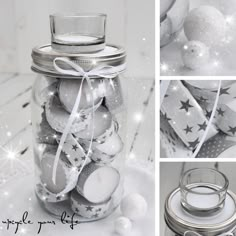
<svg viewBox="0 0 236 236">
<path fill-rule="evenodd" d="M 182 47 L 182 60 L 184 65 L 192 70 L 201 68 L 209 61 L 209 48 L 198 41 L 189 41 Z"/>
</svg>

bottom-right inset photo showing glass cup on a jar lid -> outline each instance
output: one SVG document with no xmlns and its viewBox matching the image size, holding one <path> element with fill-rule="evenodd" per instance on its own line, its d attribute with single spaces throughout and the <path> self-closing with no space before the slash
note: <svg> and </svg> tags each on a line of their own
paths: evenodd
<svg viewBox="0 0 236 236">
<path fill-rule="evenodd" d="M 236 233 L 235 162 L 160 164 L 160 235 Z"/>
</svg>

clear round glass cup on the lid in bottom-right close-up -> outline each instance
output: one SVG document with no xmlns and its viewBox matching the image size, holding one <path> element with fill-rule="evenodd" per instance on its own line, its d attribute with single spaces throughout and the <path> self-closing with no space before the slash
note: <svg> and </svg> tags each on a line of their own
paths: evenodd
<svg viewBox="0 0 236 236">
<path fill-rule="evenodd" d="M 223 207 L 229 181 L 218 170 L 196 168 L 180 179 L 181 205 L 190 214 L 210 216 Z"/>
</svg>

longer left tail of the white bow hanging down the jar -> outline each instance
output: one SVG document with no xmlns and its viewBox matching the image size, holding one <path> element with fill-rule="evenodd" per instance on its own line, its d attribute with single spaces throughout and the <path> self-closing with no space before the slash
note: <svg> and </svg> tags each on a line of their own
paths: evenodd
<svg viewBox="0 0 236 236">
<path fill-rule="evenodd" d="M 64 130 L 64 132 L 61 136 L 61 140 L 60 140 L 57 152 L 56 152 L 56 156 L 55 156 L 55 160 L 54 160 L 54 164 L 53 164 L 53 171 L 52 171 L 52 181 L 53 181 L 54 184 L 56 184 L 56 172 L 57 172 L 57 166 L 58 166 L 60 154 L 61 154 L 61 151 L 62 151 L 62 147 L 63 147 L 63 144 L 65 143 L 65 140 L 66 140 L 66 137 L 67 137 L 67 135 L 70 131 L 70 127 L 71 127 L 73 121 L 76 118 L 76 114 L 77 114 L 77 111 L 78 111 L 78 108 L 79 108 L 80 99 L 81 99 L 81 95 L 82 95 L 83 82 L 84 82 L 84 78 L 81 81 L 81 85 L 80 85 L 80 88 L 79 88 L 79 91 L 78 91 L 78 96 L 76 98 L 75 105 L 74 105 L 73 110 L 70 114 L 70 117 L 69 117 L 69 120 L 66 124 L 65 130 Z"/>
</svg>

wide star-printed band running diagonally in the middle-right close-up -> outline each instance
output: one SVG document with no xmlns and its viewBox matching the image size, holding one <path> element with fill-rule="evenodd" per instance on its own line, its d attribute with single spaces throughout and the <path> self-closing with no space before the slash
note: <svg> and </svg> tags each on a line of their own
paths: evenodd
<svg viewBox="0 0 236 236">
<path fill-rule="evenodd" d="M 161 90 L 163 86 L 166 86 L 166 83 L 161 83 Z M 167 91 L 164 91 L 161 96 L 164 97 L 161 104 L 161 114 L 164 119 L 169 122 L 183 143 L 189 149 L 195 150 L 208 124 L 203 109 L 182 81 L 172 80 Z M 217 130 L 211 125 L 205 140 L 216 134 Z"/>
</svg>

